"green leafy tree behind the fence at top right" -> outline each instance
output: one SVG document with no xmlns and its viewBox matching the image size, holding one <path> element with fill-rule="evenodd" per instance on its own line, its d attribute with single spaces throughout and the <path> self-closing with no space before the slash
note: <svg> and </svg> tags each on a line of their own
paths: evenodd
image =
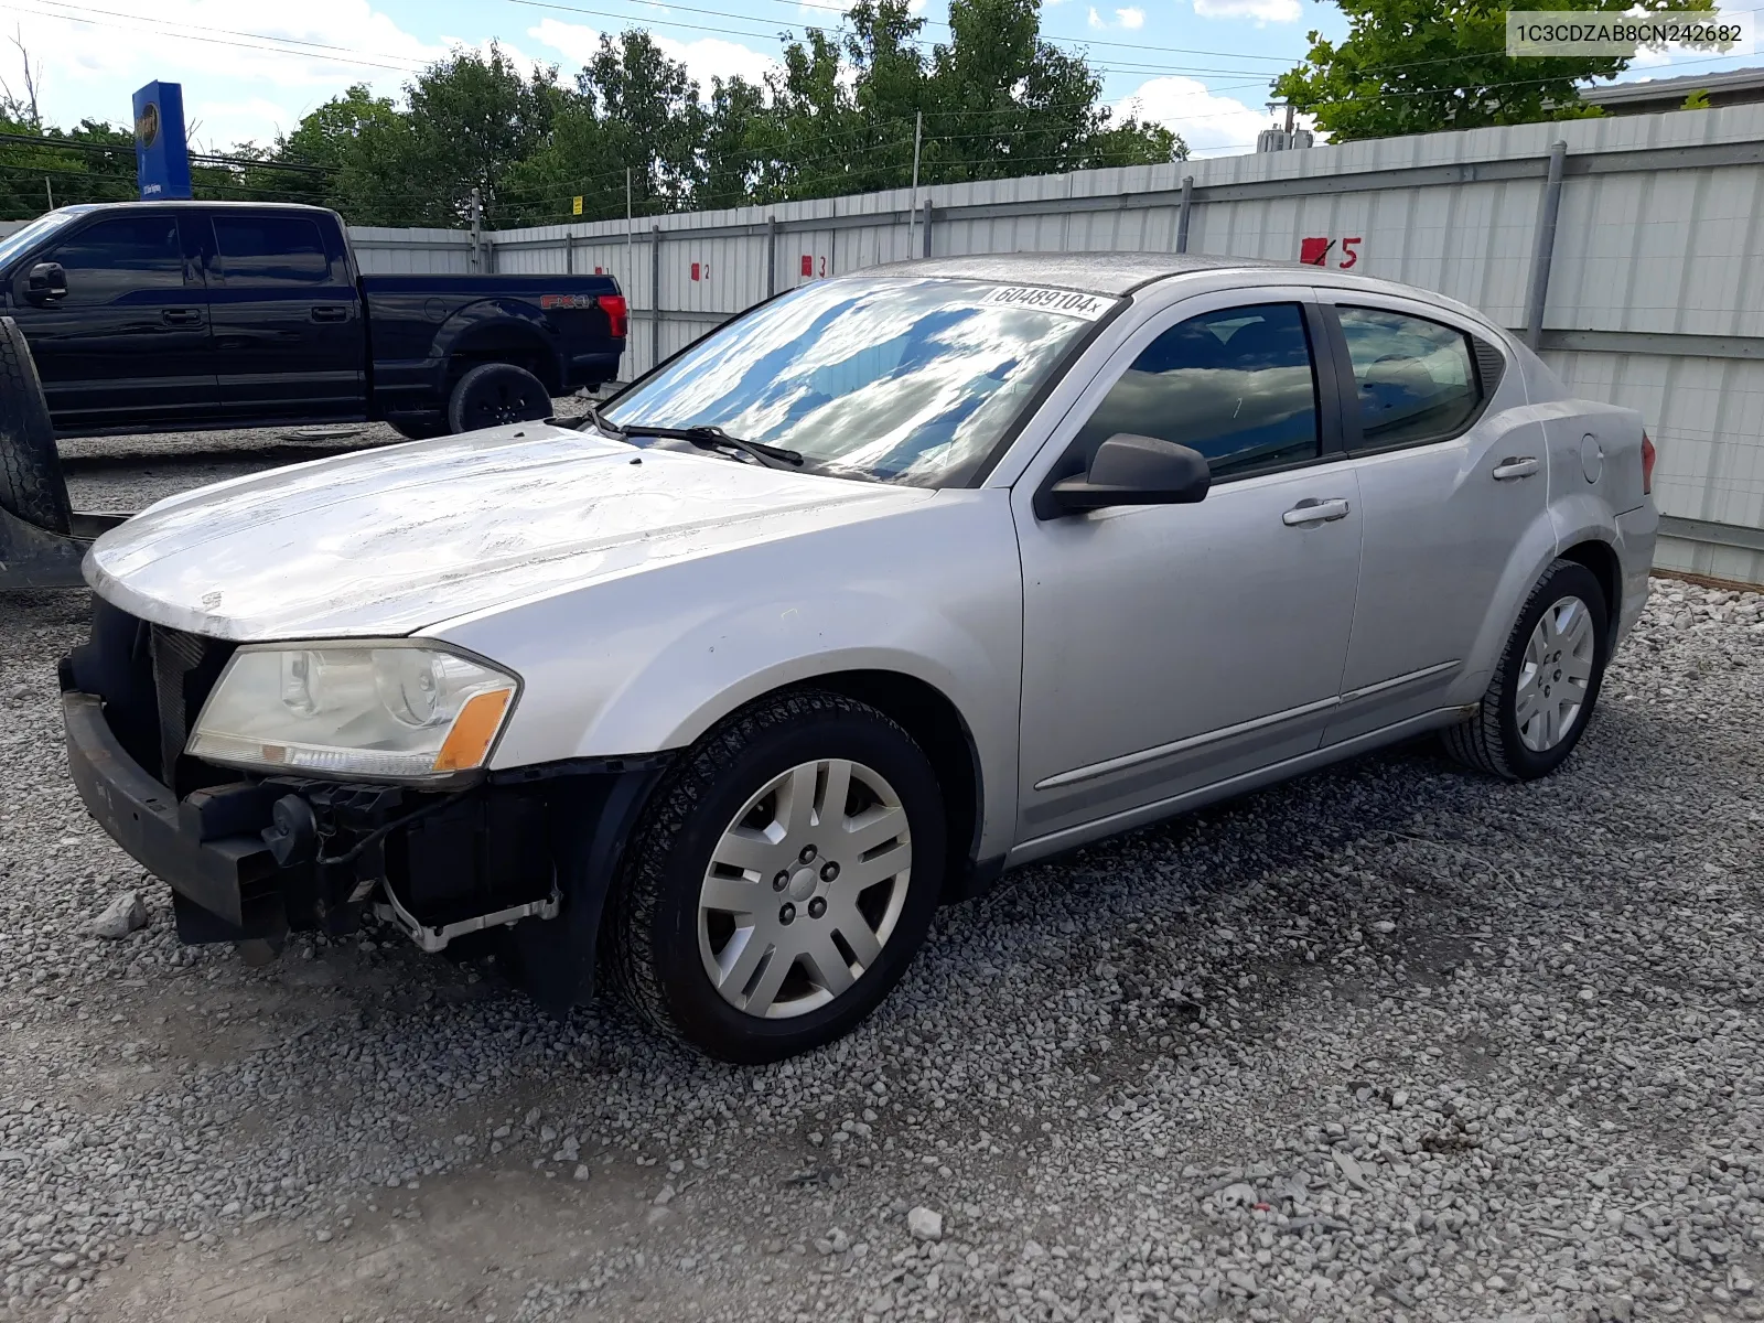
<svg viewBox="0 0 1764 1323">
<path fill-rule="evenodd" d="M 1614 78 L 1626 58 L 1506 55 L 1506 11 L 1499 0 L 1339 0 L 1348 37 L 1311 34 L 1311 53 L 1275 79 L 1274 90 L 1314 115 L 1335 141 L 1480 129 L 1496 123 L 1573 120 L 1602 111 L 1581 86 Z M 1621 14 L 1632 7 L 1709 9 L 1711 0 L 1575 0 L 1575 11 Z M 1528 9 L 1568 0 L 1524 0 Z"/>
</svg>

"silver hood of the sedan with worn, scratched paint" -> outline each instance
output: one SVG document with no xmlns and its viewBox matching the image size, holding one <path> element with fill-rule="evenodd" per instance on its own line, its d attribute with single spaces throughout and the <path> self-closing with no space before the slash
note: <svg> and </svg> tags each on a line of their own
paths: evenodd
<svg viewBox="0 0 1764 1323">
<path fill-rule="evenodd" d="M 173 496 L 99 538 L 85 577 L 217 639 L 400 635 L 931 496 L 526 423 Z"/>
</svg>

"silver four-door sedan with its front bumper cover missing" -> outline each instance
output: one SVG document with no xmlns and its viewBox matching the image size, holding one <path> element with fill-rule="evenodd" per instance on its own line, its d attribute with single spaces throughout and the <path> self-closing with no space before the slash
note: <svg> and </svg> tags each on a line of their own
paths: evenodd
<svg viewBox="0 0 1764 1323">
<path fill-rule="evenodd" d="M 372 905 L 557 1009 L 603 953 L 660 1030 L 771 1060 L 1009 866 L 1420 732 L 1554 771 L 1646 600 L 1651 469 L 1633 411 L 1418 289 L 877 268 L 580 430 L 109 533 L 69 750 L 189 940 Z"/>
</svg>

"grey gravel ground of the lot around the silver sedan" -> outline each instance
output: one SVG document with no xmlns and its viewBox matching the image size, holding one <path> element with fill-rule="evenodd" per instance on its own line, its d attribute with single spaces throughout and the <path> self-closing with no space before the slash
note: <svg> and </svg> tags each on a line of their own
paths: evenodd
<svg viewBox="0 0 1764 1323">
<path fill-rule="evenodd" d="M 383 931 L 178 947 L 62 767 L 83 594 L 0 600 L 0 1318 L 1764 1318 L 1764 603 L 1655 593 L 1554 778 L 1013 873 L 757 1071 Z"/>
</svg>

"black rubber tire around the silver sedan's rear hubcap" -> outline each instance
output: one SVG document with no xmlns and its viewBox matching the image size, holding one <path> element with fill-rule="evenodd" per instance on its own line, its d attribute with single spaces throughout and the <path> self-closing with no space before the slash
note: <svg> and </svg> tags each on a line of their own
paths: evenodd
<svg viewBox="0 0 1764 1323">
<path fill-rule="evenodd" d="M 1554 746 L 1540 751 L 1529 748 L 1521 737 L 1519 683 L 1531 633 L 1544 619 L 1544 612 L 1556 609 L 1566 598 L 1579 598 L 1586 605 L 1593 632 L 1593 667 L 1586 681 L 1586 695 L 1565 734 Z M 1598 688 L 1605 677 L 1605 662 L 1611 654 L 1609 626 L 1605 591 L 1593 572 L 1575 561 L 1552 561 L 1519 612 L 1514 633 L 1506 640 L 1501 662 L 1482 697 L 1482 709 L 1462 725 L 1441 732 L 1446 753 L 1508 781 L 1531 781 L 1556 771 L 1581 743 L 1581 736 L 1586 734 L 1586 727 L 1593 720 Z"/>
</svg>

